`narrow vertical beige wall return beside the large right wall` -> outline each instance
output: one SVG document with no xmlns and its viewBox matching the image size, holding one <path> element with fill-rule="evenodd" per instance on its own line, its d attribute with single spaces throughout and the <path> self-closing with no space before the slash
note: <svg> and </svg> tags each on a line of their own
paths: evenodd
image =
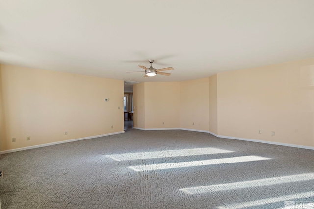
<svg viewBox="0 0 314 209">
<path fill-rule="evenodd" d="M 209 77 L 209 131 L 218 134 L 217 75 Z"/>
</svg>

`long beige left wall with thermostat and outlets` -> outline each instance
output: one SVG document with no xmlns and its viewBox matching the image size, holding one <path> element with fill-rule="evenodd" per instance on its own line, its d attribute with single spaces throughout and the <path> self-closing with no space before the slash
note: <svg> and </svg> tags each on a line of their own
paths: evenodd
<svg viewBox="0 0 314 209">
<path fill-rule="evenodd" d="M 124 131 L 123 81 L 10 65 L 1 75 L 1 150 Z"/>
</svg>

